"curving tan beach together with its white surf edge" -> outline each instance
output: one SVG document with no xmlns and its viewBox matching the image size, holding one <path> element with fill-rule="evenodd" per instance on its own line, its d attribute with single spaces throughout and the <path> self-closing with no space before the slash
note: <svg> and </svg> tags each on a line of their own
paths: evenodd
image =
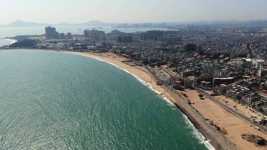
<svg viewBox="0 0 267 150">
<path fill-rule="evenodd" d="M 198 136 L 204 142 L 206 147 L 209 150 L 233 150 L 232 146 L 229 143 L 225 142 L 218 133 L 208 126 L 202 118 L 200 118 L 194 111 L 189 108 L 187 103 L 179 97 L 179 95 L 173 93 L 164 85 L 157 85 L 156 79 L 151 75 L 146 69 L 141 67 L 130 66 L 125 64 L 123 61 L 126 61 L 126 58 L 119 57 L 111 53 L 89 53 L 89 52 L 70 52 L 65 51 L 65 53 L 82 55 L 90 58 L 94 58 L 100 61 L 107 62 L 112 64 L 124 71 L 134 75 L 140 82 L 148 86 L 151 90 L 154 90 L 157 93 L 164 94 L 164 99 L 175 105 L 183 114 L 184 117 L 188 119 L 189 125 L 193 126 L 198 132 Z M 115 60 L 116 59 L 116 60 Z M 204 140 L 207 139 L 207 140 Z"/>
</svg>

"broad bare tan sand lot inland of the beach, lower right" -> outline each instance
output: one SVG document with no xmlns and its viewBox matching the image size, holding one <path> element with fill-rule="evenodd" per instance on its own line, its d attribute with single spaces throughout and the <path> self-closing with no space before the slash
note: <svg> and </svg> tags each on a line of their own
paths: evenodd
<svg viewBox="0 0 267 150">
<path fill-rule="evenodd" d="M 267 147 L 256 147 L 252 143 L 242 139 L 242 134 L 255 134 L 267 139 L 266 134 L 256 130 L 254 126 L 250 126 L 250 123 L 230 112 L 227 112 L 221 106 L 217 105 L 208 98 L 201 100 L 198 97 L 200 93 L 195 90 L 186 89 L 183 93 L 187 95 L 191 103 L 194 103 L 193 107 L 196 108 L 205 118 L 212 120 L 220 128 L 223 128 L 223 130 L 227 132 L 225 136 L 236 144 L 240 150 L 267 150 Z M 224 98 L 224 96 L 220 97 Z M 232 104 L 230 100 L 228 101 Z"/>
</svg>

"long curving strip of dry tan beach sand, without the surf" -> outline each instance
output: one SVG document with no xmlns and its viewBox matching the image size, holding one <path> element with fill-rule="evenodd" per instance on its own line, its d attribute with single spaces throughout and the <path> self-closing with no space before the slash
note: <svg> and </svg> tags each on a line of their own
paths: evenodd
<svg viewBox="0 0 267 150">
<path fill-rule="evenodd" d="M 145 68 L 138 67 L 138 66 L 130 66 L 130 65 L 128 65 L 128 64 L 126 64 L 126 63 L 123 62 L 123 61 L 127 61 L 126 58 L 122 58 L 122 57 L 117 56 L 117 55 L 112 54 L 112 53 L 89 53 L 89 52 L 66 52 L 66 53 L 83 55 L 83 56 L 92 57 L 92 58 L 96 58 L 96 59 L 100 59 L 100 60 L 103 60 L 103 61 L 112 63 L 112 64 L 114 64 L 114 65 L 116 65 L 116 66 L 118 66 L 120 68 L 123 68 L 123 69 L 129 71 L 130 73 L 138 76 L 139 78 L 141 78 L 145 82 L 150 83 L 155 90 L 159 91 L 160 93 L 163 93 L 164 96 L 168 100 L 171 100 L 171 103 L 174 103 L 174 104 L 176 103 L 176 104 L 179 105 L 180 110 L 182 112 L 186 113 L 186 115 L 191 120 L 191 122 L 194 124 L 194 126 L 197 127 L 197 129 L 199 130 L 199 132 L 202 135 L 204 135 L 207 140 L 210 141 L 210 144 L 214 148 L 216 148 L 217 150 L 232 150 L 230 148 L 230 146 L 228 146 L 229 144 L 225 143 L 223 141 L 223 139 L 221 138 L 221 136 L 218 135 L 218 133 L 214 132 L 204 122 L 204 120 L 202 120 L 201 118 L 199 118 L 198 115 L 195 114 L 195 112 L 191 110 L 191 108 L 187 105 L 187 102 L 186 101 L 182 100 L 179 97 L 179 95 L 173 93 L 166 86 L 164 86 L 164 85 L 162 85 L 162 86 L 157 85 L 156 84 L 156 79 Z M 216 109 L 214 111 L 216 111 Z M 200 111 L 200 112 L 202 112 L 202 111 Z M 205 112 L 207 112 L 207 111 L 205 111 Z M 232 117 L 235 117 L 235 116 L 232 116 Z M 229 132 L 231 132 L 231 131 L 229 130 Z M 241 135 L 239 135 L 239 136 L 241 137 Z M 233 142 L 235 142 L 235 141 L 233 141 Z M 237 146 L 239 148 L 241 148 L 240 150 L 246 150 L 246 149 L 242 149 L 242 143 L 248 143 L 248 142 L 245 141 L 245 140 L 243 140 L 243 141 L 240 142 L 241 145 L 239 146 L 239 143 L 238 143 Z M 250 145 L 251 148 L 254 147 L 252 144 L 249 144 L 249 143 L 247 145 Z M 258 150 L 258 149 L 254 149 L 254 150 Z"/>
</svg>

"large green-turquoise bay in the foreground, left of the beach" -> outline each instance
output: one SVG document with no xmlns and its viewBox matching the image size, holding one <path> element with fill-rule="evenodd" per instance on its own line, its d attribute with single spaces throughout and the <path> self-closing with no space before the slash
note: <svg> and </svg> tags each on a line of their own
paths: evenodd
<svg viewBox="0 0 267 150">
<path fill-rule="evenodd" d="M 207 150 L 174 106 L 110 64 L 0 51 L 1 150 Z"/>
</svg>

